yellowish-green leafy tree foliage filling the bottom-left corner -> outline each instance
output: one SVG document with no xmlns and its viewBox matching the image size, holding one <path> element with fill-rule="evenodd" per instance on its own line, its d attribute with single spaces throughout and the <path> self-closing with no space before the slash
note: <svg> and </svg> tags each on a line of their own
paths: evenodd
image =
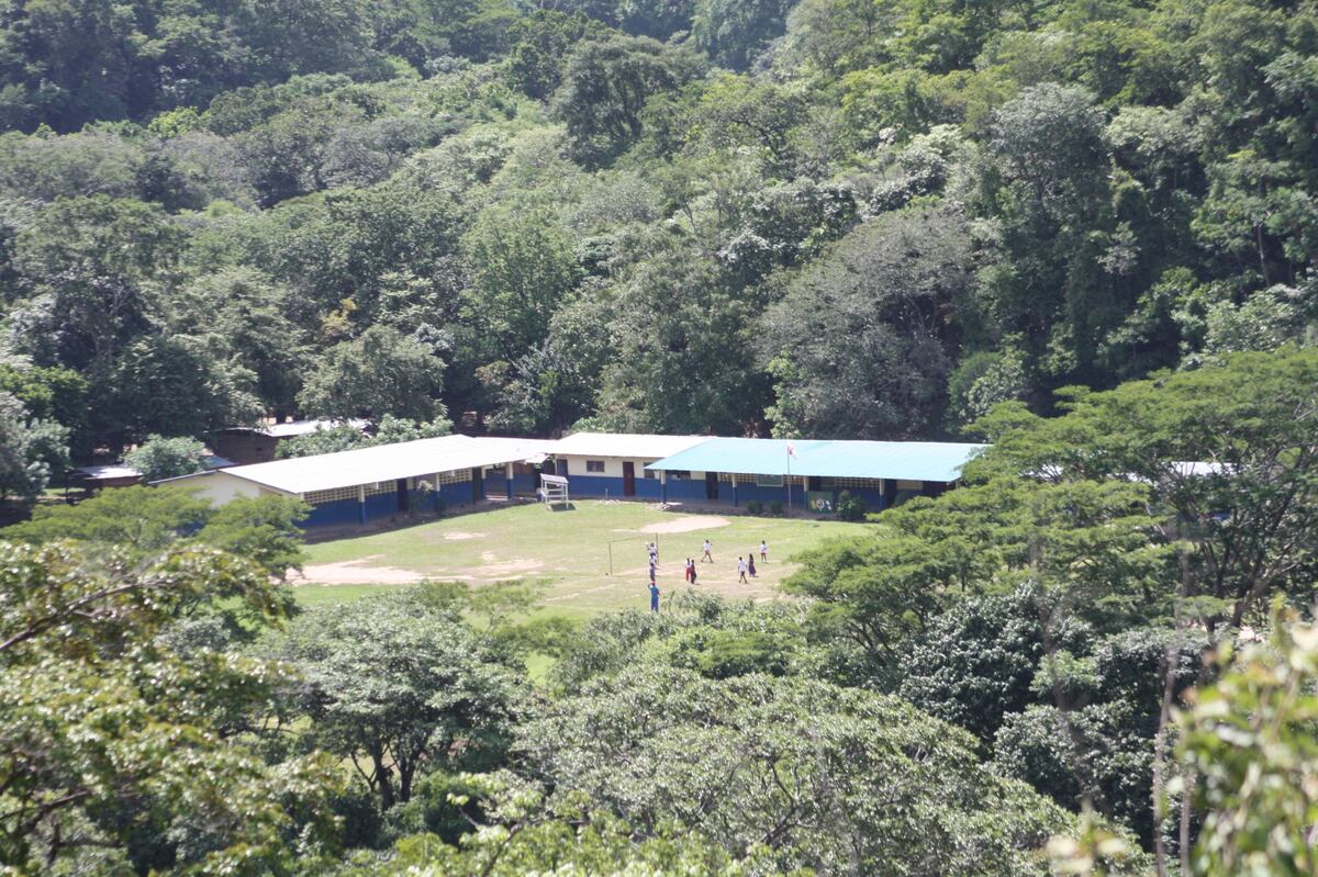
<svg viewBox="0 0 1318 877">
<path fill-rule="evenodd" d="M 0 861 L 41 873 L 195 868 L 290 872 L 332 853 L 332 762 L 269 765 L 241 735 L 285 673 L 157 633 L 185 614 L 278 619 L 252 565 L 181 548 L 145 562 L 69 543 L 4 544 Z M 302 837 L 302 849 L 289 844 Z"/>
</svg>

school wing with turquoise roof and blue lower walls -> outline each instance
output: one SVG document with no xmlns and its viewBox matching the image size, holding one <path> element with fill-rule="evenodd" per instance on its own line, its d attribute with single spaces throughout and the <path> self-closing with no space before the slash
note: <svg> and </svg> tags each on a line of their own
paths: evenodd
<svg viewBox="0 0 1318 877">
<path fill-rule="evenodd" d="M 679 496 L 742 506 L 791 503 L 829 514 L 842 491 L 880 511 L 911 496 L 937 496 L 987 445 L 941 441 L 816 441 L 706 438 L 650 464 L 660 499 Z M 699 495 L 692 496 L 699 487 Z M 573 490 L 576 485 L 573 482 Z"/>
</svg>

